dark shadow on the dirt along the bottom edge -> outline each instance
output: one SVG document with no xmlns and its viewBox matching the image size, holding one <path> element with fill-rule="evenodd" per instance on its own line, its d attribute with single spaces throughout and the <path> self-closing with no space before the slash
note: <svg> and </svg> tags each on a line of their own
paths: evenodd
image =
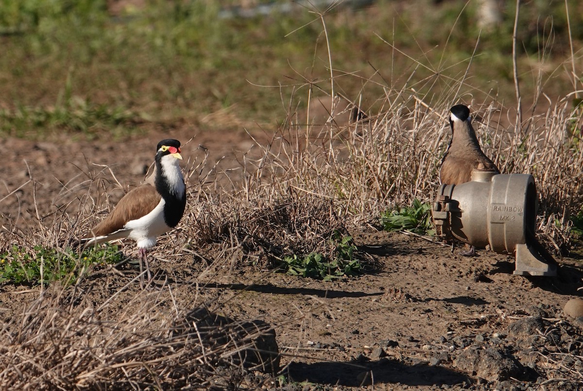
<svg viewBox="0 0 583 391">
<path fill-rule="evenodd" d="M 290 381 L 310 382 L 347 387 L 379 383 L 400 383 L 408 386 L 456 385 L 470 383 L 467 375 L 451 369 L 430 366 L 427 361 L 408 365 L 381 358 L 370 362 L 304 362 L 292 361 L 287 367 Z"/>
</svg>

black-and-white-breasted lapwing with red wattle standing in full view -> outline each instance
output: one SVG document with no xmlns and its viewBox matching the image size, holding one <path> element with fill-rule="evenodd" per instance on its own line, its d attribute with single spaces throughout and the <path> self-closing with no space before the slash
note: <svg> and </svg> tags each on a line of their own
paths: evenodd
<svg viewBox="0 0 583 391">
<path fill-rule="evenodd" d="M 180 141 L 171 138 L 160 141 L 152 175 L 146 183 L 125 194 L 113 211 L 83 237 L 83 246 L 123 238 L 135 240 L 141 275 L 145 264 L 151 281 L 146 252 L 156 244 L 157 236 L 178 224 L 186 206 L 186 186 L 178 165 L 181 159 Z"/>
</svg>

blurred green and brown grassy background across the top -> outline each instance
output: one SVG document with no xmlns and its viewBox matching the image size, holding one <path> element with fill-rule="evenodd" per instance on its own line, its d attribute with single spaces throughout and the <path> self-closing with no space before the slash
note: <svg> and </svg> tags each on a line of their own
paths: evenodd
<svg viewBox="0 0 583 391">
<path fill-rule="evenodd" d="M 272 5 L 268 15 L 237 16 L 261 3 Z M 501 19 L 486 27 L 477 0 L 303 4 L 0 0 L 0 135 L 275 129 L 289 106 L 307 104 L 310 88 L 330 93 L 324 32 L 335 91 L 369 112 L 405 84 L 427 103 L 440 99 L 458 88 L 470 58 L 466 100 L 515 102 L 515 2 L 498 1 Z M 583 2 L 522 2 L 517 38 L 525 101 L 539 74 L 552 99 L 581 88 L 571 71 L 575 63 L 581 72 Z M 205 122 L 212 113 L 222 115 Z"/>
</svg>

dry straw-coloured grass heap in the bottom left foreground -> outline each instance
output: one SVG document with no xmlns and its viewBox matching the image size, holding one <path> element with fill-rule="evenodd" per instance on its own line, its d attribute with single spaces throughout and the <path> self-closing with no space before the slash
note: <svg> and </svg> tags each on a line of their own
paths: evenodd
<svg viewBox="0 0 583 391">
<path fill-rule="evenodd" d="M 268 325 L 213 315 L 176 299 L 169 285 L 128 300 L 135 283 L 103 303 L 92 303 L 89 290 L 100 288 L 86 282 L 41 290 L 0 330 L 0 388 L 237 388 L 241 362 L 258 365 L 254 341 L 264 339 L 257 349 L 271 343 L 265 335 L 275 341 Z"/>
</svg>

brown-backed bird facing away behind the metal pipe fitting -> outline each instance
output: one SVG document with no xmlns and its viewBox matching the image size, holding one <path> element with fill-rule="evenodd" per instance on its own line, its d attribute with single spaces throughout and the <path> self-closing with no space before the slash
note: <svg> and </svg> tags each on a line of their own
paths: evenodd
<svg viewBox="0 0 583 391">
<path fill-rule="evenodd" d="M 452 137 L 447 151 L 441 161 L 440 182 L 444 184 L 460 184 L 472 180 L 472 170 L 476 168 L 492 170 L 497 174 L 500 170 L 484 155 L 477 141 L 476 132 L 470 123 L 470 110 L 465 105 L 455 105 L 449 115 Z M 466 247 L 469 247 L 466 245 Z M 473 246 L 460 254 L 470 257 L 476 254 Z"/>
</svg>

